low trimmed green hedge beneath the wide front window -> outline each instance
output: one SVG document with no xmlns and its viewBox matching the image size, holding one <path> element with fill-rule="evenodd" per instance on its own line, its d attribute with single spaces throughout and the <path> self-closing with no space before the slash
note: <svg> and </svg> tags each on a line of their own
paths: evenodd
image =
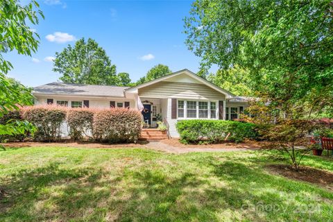
<svg viewBox="0 0 333 222">
<path fill-rule="evenodd" d="M 239 121 L 192 119 L 176 124 L 180 141 L 183 143 L 217 143 L 225 140 L 241 142 L 244 139 L 257 139 L 258 133 L 253 123 Z"/>
</svg>

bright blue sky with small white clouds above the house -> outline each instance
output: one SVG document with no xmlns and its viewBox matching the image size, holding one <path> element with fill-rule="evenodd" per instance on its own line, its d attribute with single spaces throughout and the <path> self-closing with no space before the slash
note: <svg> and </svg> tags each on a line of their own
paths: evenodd
<svg viewBox="0 0 333 222">
<path fill-rule="evenodd" d="M 117 66 L 138 80 L 154 65 L 172 71 L 198 71 L 200 58 L 185 46 L 184 22 L 192 1 L 40 1 L 45 19 L 32 27 L 40 35 L 32 58 L 10 53 L 14 65 L 9 76 L 24 85 L 37 86 L 58 80 L 51 58 L 67 44 L 92 37 Z"/>
</svg>

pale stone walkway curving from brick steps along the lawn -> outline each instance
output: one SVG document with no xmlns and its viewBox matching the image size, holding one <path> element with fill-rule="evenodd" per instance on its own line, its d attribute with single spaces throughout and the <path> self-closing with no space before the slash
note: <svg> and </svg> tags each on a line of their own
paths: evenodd
<svg viewBox="0 0 333 222">
<path fill-rule="evenodd" d="M 253 151 L 255 148 L 180 148 L 170 146 L 162 142 L 149 142 L 147 148 L 166 153 L 191 153 L 191 152 L 233 152 L 233 151 Z"/>
</svg>

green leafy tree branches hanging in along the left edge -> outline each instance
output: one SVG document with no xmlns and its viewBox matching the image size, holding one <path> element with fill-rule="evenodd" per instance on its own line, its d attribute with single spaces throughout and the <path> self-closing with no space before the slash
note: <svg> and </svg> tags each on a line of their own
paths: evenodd
<svg viewBox="0 0 333 222">
<path fill-rule="evenodd" d="M 26 24 L 38 24 L 38 16 L 44 18 L 42 11 L 37 8 L 37 1 L 31 1 L 26 6 L 22 6 L 17 0 L 0 2 L 0 117 L 10 110 L 19 109 L 20 105 L 32 104 L 31 90 L 6 77 L 13 66 L 3 58 L 3 53 L 17 51 L 31 56 L 31 53 L 37 51 L 39 35 Z M 0 124 L 0 135 L 15 135 L 24 130 L 33 131 L 33 126 L 26 121 Z"/>
</svg>

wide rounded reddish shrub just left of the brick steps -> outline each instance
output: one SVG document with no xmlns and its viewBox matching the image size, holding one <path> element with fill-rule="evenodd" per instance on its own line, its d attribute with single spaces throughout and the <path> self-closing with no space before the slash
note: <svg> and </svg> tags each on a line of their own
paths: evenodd
<svg viewBox="0 0 333 222">
<path fill-rule="evenodd" d="M 94 137 L 101 142 L 136 142 L 141 133 L 141 123 L 142 115 L 137 110 L 102 110 L 94 115 Z"/>
</svg>

